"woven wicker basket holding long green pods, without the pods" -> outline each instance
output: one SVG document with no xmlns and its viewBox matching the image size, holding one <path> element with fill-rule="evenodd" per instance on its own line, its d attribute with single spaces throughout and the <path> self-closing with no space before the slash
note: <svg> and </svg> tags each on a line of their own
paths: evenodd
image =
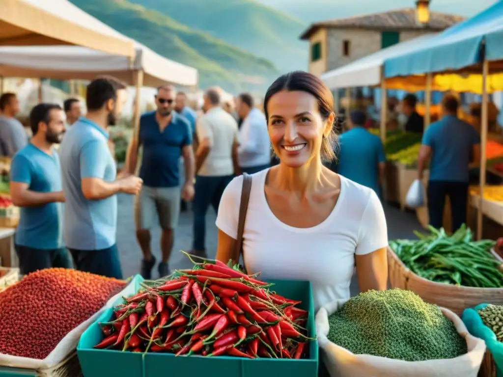
<svg viewBox="0 0 503 377">
<path fill-rule="evenodd" d="M 412 291 L 426 302 L 450 309 L 459 316 L 466 308 L 478 304 L 503 305 L 503 288 L 459 287 L 424 279 L 405 267 L 389 247 L 388 270 L 391 288 Z"/>
</svg>

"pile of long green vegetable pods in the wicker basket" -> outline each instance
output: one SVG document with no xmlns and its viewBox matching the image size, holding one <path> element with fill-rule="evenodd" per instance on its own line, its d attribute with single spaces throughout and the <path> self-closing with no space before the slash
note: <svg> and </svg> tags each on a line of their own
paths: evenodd
<svg viewBox="0 0 503 377">
<path fill-rule="evenodd" d="M 490 253 L 492 240 L 473 241 L 469 228 L 462 226 L 452 236 L 443 228 L 429 227 L 431 233 L 414 234 L 419 240 L 390 241 L 389 246 L 412 272 L 425 279 L 465 287 L 501 288 L 503 273 Z"/>
</svg>

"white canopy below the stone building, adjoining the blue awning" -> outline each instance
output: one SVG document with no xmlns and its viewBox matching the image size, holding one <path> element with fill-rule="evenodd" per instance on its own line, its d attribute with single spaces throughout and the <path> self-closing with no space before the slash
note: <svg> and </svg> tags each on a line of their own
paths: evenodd
<svg viewBox="0 0 503 377">
<path fill-rule="evenodd" d="M 321 75 L 321 79 L 330 89 L 348 88 L 355 86 L 380 85 L 382 66 L 386 59 L 398 56 L 405 52 L 414 51 L 417 46 L 423 45 L 436 34 L 424 35 L 405 41 L 394 46 L 379 50 L 371 55 L 355 60 L 340 68 L 333 69 Z"/>
</svg>

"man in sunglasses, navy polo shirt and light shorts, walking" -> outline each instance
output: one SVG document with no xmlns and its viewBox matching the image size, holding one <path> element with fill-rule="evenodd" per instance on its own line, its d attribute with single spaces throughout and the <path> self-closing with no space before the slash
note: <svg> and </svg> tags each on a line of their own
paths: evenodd
<svg viewBox="0 0 503 377">
<path fill-rule="evenodd" d="M 176 90 L 171 85 L 160 86 L 155 96 L 157 110 L 140 118 L 138 138 L 131 141 L 126 173 L 136 169 L 138 150 L 143 146 L 140 177 L 141 192 L 136 196 L 136 238 L 143 252 L 141 274 L 151 278 L 155 257 L 150 246 L 150 229 L 155 212 L 159 219 L 162 260 L 159 276 L 169 275 L 168 260 L 174 242 L 174 231 L 180 215 L 180 199 L 194 197 L 194 151 L 189 121 L 174 111 Z M 180 194 L 180 155 L 184 158 L 185 183 Z"/>
</svg>

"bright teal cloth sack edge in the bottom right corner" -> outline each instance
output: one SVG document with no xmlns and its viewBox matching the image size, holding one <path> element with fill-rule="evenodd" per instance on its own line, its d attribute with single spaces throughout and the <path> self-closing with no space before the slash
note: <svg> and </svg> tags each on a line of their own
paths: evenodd
<svg viewBox="0 0 503 377">
<path fill-rule="evenodd" d="M 484 309 L 487 305 L 480 304 L 473 309 L 465 309 L 463 312 L 463 322 L 470 334 L 484 340 L 487 350 L 492 354 L 492 358 L 496 364 L 497 377 L 503 377 L 503 343 L 497 340 L 496 334 L 491 328 L 484 325 L 482 318 L 478 314 L 478 311 Z"/>
</svg>

